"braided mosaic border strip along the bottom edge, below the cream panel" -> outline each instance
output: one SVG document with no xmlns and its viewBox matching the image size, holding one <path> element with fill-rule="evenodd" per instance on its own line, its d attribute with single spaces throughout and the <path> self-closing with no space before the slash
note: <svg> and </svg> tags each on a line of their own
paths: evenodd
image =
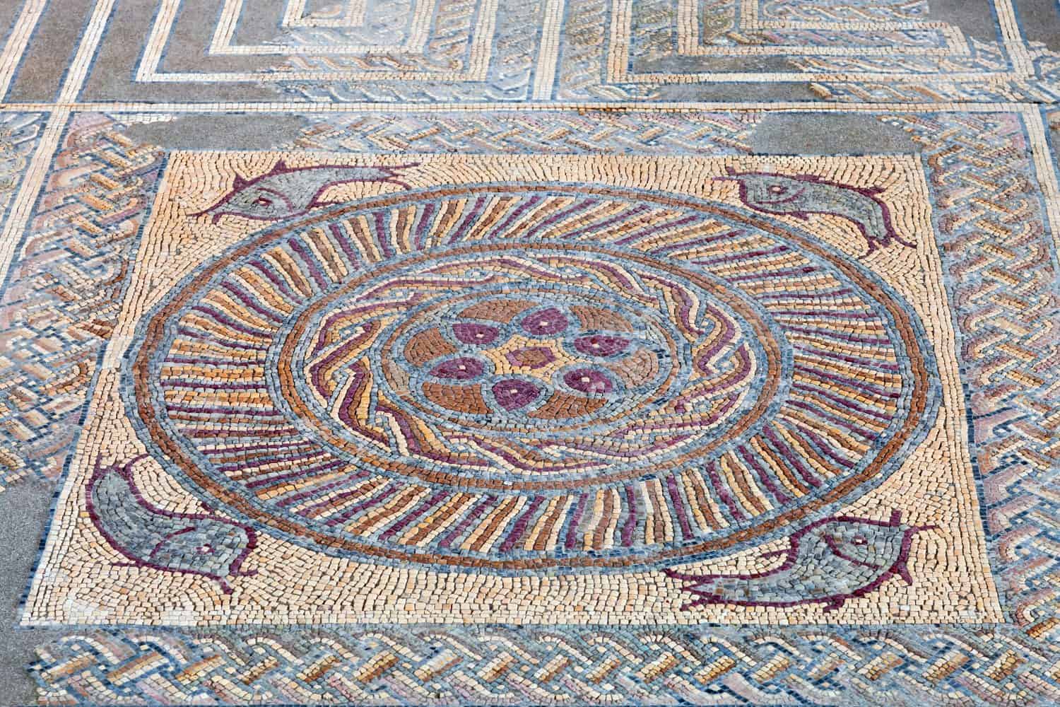
<svg viewBox="0 0 1060 707">
<path fill-rule="evenodd" d="M 989 628 L 100 631 L 40 650 L 42 704 L 1028 704 L 1055 656 Z M 982 676 L 977 673 L 982 673 Z"/>
</svg>

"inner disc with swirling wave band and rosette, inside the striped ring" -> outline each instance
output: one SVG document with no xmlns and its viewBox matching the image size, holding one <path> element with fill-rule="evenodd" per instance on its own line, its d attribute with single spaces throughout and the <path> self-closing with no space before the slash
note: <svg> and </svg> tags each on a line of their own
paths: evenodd
<svg viewBox="0 0 1060 707">
<path fill-rule="evenodd" d="M 618 271 L 638 287 L 616 291 Z M 709 445 L 758 402 L 767 335 L 720 284 L 650 261 L 456 249 L 310 307 L 277 387 L 351 454 L 378 448 L 420 478 L 548 485 Z"/>
</svg>

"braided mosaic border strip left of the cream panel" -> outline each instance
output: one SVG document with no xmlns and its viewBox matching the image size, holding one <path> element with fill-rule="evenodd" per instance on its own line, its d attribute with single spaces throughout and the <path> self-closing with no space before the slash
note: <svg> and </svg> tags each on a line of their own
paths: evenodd
<svg viewBox="0 0 1060 707">
<path fill-rule="evenodd" d="M 96 359 L 118 314 L 131 246 L 161 153 L 110 121 L 78 116 L 64 136 L 0 311 L 7 322 L 0 440 L 11 470 L 58 476 L 83 417 Z"/>
</svg>

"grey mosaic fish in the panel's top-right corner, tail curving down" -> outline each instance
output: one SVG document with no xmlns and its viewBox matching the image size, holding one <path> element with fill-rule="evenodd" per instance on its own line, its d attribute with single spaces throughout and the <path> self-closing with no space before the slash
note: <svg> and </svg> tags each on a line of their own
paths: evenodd
<svg viewBox="0 0 1060 707">
<path fill-rule="evenodd" d="M 851 187 L 809 174 L 727 171 L 728 177 L 714 180 L 738 182 L 740 200 L 752 209 L 802 219 L 811 213 L 843 216 L 858 226 L 868 242 L 869 253 L 894 243 L 916 248 L 895 230 L 890 210 L 877 196 L 883 190 L 877 187 Z"/>
</svg>

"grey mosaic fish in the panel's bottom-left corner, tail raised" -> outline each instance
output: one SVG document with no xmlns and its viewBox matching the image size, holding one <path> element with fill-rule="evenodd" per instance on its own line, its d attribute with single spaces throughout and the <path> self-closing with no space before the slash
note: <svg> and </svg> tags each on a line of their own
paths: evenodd
<svg viewBox="0 0 1060 707">
<path fill-rule="evenodd" d="M 153 506 L 132 480 L 132 466 L 101 466 L 88 482 L 88 515 L 116 550 L 130 562 L 167 572 L 201 575 L 231 594 L 229 577 L 255 573 L 241 569 L 258 546 L 253 528 L 211 513 L 174 513 Z"/>
</svg>

